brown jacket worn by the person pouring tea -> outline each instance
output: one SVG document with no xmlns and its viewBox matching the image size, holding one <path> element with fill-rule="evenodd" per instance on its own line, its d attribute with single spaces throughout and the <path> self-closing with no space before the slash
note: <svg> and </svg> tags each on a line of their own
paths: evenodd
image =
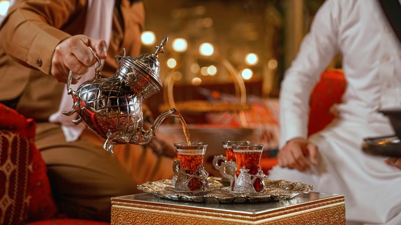
<svg viewBox="0 0 401 225">
<path fill-rule="evenodd" d="M 65 84 L 49 76 L 51 58 L 62 40 L 82 34 L 86 9 L 87 0 L 16 1 L 0 29 L 0 102 L 16 103 L 38 122 L 57 111 Z M 143 4 L 122 0 L 120 9 L 114 10 L 104 77 L 115 73 L 123 48 L 127 55 L 140 53 Z"/>
</svg>

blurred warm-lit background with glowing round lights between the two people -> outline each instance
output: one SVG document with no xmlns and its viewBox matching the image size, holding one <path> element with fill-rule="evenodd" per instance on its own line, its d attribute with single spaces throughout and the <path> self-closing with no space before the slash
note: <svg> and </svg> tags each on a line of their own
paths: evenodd
<svg viewBox="0 0 401 225">
<path fill-rule="evenodd" d="M 159 55 L 163 89 L 145 105 L 154 118 L 177 108 L 191 141 L 209 144 L 208 162 L 224 154 L 225 140 L 264 144 L 269 150 L 264 158 L 274 158 L 280 82 L 323 2 L 144 0 L 141 53 L 154 53 L 154 46 L 169 37 L 165 53 Z M 0 17 L 8 5 L 0 0 Z M 175 141 L 186 140 L 174 118 L 159 130 Z M 275 163 L 267 160 L 262 166 L 267 170 Z"/>
</svg>

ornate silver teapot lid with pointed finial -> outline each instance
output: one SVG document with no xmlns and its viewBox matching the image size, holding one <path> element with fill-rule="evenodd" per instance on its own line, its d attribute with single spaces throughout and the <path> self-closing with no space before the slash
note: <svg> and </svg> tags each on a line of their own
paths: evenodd
<svg viewBox="0 0 401 225">
<path fill-rule="evenodd" d="M 162 83 L 159 76 L 160 71 L 160 62 L 158 60 L 159 53 L 164 53 L 163 46 L 166 45 L 168 41 L 168 37 L 165 37 L 160 43 L 159 46 L 155 46 L 156 51 L 153 54 L 141 54 L 138 57 L 122 57 L 126 61 L 130 61 L 133 65 L 138 67 L 141 72 L 145 74 L 149 74 L 150 77 L 153 78 L 154 81 L 159 85 L 159 88 L 162 87 Z"/>
</svg>

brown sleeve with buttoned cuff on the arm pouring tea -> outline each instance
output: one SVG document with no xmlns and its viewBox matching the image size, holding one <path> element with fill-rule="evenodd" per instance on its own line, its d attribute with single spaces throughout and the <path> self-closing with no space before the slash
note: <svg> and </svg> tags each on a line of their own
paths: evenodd
<svg viewBox="0 0 401 225">
<path fill-rule="evenodd" d="M 86 1 L 17 0 L 1 27 L 0 45 L 19 63 L 50 74 L 54 49 L 71 36 L 61 29 L 80 7 L 86 9 Z"/>
</svg>

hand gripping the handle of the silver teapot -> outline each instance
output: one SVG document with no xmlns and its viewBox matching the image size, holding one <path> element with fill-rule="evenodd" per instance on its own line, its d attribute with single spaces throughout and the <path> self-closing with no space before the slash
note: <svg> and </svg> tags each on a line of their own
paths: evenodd
<svg viewBox="0 0 401 225">
<path fill-rule="evenodd" d="M 63 40 L 54 49 L 51 60 L 51 75 L 57 81 L 67 83 L 68 73 L 84 74 L 89 67 L 95 65 L 96 58 L 88 48 L 94 49 L 100 59 L 106 59 L 107 43 L 101 39 L 92 39 L 85 35 L 75 35 Z M 77 83 L 79 78 L 72 80 Z"/>
</svg>

